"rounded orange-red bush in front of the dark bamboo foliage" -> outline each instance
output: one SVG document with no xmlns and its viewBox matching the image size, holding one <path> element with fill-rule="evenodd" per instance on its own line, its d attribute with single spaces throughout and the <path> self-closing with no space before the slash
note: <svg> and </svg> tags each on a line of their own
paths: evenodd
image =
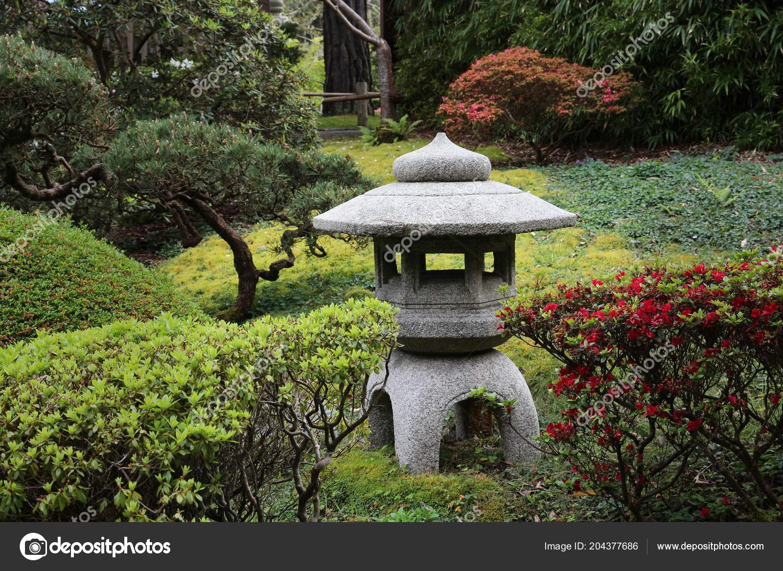
<svg viewBox="0 0 783 571">
<path fill-rule="evenodd" d="M 483 57 L 456 78 L 438 114 L 452 135 L 521 137 L 540 163 L 566 137 L 638 103 L 639 84 L 624 72 L 585 89 L 596 71 L 534 49 L 507 49 Z"/>
</svg>

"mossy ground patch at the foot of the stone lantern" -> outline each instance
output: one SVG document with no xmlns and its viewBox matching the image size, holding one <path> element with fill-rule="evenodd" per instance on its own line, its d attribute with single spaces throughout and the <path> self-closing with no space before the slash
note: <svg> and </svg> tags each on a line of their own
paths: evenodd
<svg viewBox="0 0 783 571">
<path fill-rule="evenodd" d="M 478 441 L 444 447 L 457 464 L 438 474 L 413 475 L 397 465 L 393 450 L 351 450 L 337 457 L 323 483 L 330 521 L 367 521 L 402 508 L 434 510 L 442 521 L 586 521 L 609 519 L 607 504 L 594 495 L 568 493 L 568 470 L 543 458 L 514 467 Z"/>
</svg>

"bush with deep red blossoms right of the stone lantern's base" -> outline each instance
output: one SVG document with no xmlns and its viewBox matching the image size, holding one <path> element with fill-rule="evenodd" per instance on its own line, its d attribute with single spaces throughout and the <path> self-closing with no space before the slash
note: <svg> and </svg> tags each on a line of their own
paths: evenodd
<svg viewBox="0 0 783 571">
<path fill-rule="evenodd" d="M 564 364 L 543 446 L 633 519 L 783 519 L 783 255 L 618 273 L 499 313 Z M 692 504 L 692 502 L 691 502 Z M 712 515 L 710 515 L 712 509 Z"/>
</svg>

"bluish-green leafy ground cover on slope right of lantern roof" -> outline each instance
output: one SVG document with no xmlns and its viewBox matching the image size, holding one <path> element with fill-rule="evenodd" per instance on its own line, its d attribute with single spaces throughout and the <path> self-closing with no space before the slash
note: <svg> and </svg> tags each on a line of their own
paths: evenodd
<svg viewBox="0 0 783 571">
<path fill-rule="evenodd" d="M 583 161 L 548 169 L 550 200 L 592 231 L 616 231 L 636 248 L 660 244 L 709 255 L 766 247 L 783 236 L 783 168 L 772 158 L 734 161 L 732 150 L 665 161 Z"/>
</svg>

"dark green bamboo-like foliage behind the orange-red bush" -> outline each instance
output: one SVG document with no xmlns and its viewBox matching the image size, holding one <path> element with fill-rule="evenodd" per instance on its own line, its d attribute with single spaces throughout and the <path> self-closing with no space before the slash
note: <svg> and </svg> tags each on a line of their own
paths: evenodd
<svg viewBox="0 0 783 571">
<path fill-rule="evenodd" d="M 783 5 L 770 0 L 398 0 L 396 86 L 407 110 L 432 121 L 451 81 L 486 54 L 514 45 L 604 67 L 649 23 L 659 38 L 622 67 L 648 106 L 615 133 L 634 144 L 734 140 L 783 144 Z M 424 54 L 424 56 L 422 56 Z M 588 78 L 585 78 L 585 80 Z"/>
</svg>

